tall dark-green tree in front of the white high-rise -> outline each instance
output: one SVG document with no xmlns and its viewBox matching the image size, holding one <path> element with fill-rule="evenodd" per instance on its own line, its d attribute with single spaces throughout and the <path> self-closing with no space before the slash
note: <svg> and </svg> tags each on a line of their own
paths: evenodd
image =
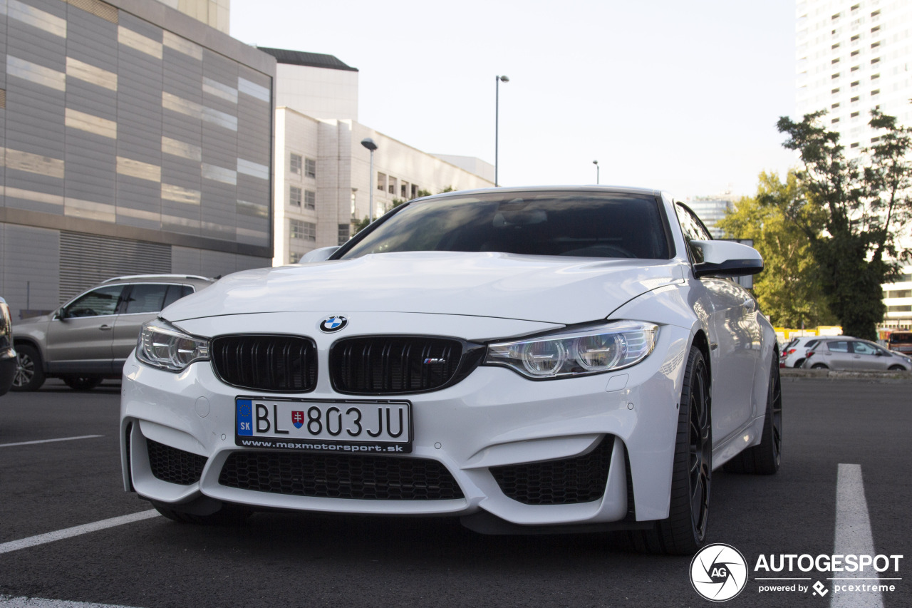
<svg viewBox="0 0 912 608">
<path fill-rule="evenodd" d="M 862 159 L 846 159 L 839 133 L 821 126 L 823 114 L 777 122 L 788 138 L 782 145 L 801 154 L 796 175 L 802 193 L 765 202 L 777 205 L 810 240 L 824 295 L 843 332 L 873 340 L 885 312 L 881 284 L 896 277 L 896 260 L 907 257 L 896 234 L 912 215 L 912 140 L 895 117 L 874 110 L 870 125 L 879 140 Z"/>
</svg>

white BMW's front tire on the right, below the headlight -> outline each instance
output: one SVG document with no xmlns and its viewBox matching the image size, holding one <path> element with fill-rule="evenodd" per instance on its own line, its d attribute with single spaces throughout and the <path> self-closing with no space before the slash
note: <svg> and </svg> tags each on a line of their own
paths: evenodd
<svg viewBox="0 0 912 608">
<path fill-rule="evenodd" d="M 710 374 L 703 354 L 690 347 L 678 408 L 668 519 L 630 532 L 638 550 L 693 555 L 706 538 L 712 484 Z"/>
</svg>

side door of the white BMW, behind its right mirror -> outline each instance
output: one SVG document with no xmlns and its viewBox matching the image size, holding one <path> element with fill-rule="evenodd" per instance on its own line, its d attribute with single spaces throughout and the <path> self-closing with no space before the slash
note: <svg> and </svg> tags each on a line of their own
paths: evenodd
<svg viewBox="0 0 912 608">
<path fill-rule="evenodd" d="M 709 231 L 685 205 L 676 204 L 685 239 L 711 240 Z M 690 247 L 691 257 L 702 252 Z M 712 369 L 712 433 L 720 441 L 739 431 L 753 415 L 752 388 L 760 356 L 761 330 L 751 294 L 729 278 L 700 278 L 710 310 L 710 368 Z M 768 367 L 764 372 L 768 373 Z M 763 404 L 765 405 L 765 404 Z"/>
</svg>

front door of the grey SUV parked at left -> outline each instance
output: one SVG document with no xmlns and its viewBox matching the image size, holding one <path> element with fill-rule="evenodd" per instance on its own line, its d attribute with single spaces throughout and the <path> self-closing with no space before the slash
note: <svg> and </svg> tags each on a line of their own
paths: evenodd
<svg viewBox="0 0 912 608">
<path fill-rule="evenodd" d="M 122 293 L 122 285 L 94 288 L 58 311 L 47 325 L 48 371 L 111 372 L 111 341 Z"/>
</svg>

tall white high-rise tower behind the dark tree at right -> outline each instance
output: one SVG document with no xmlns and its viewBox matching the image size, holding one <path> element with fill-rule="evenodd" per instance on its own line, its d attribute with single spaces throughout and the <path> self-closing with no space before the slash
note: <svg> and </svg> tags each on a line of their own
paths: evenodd
<svg viewBox="0 0 912 608">
<path fill-rule="evenodd" d="M 909 0 L 798 0 L 795 7 L 796 114 L 826 110 L 824 125 L 840 133 L 848 156 L 878 141 L 867 125 L 877 108 L 912 124 L 912 2 Z M 908 230 L 907 230 L 908 233 Z M 900 238 L 912 247 L 912 235 Z M 912 267 L 904 267 L 906 279 Z M 883 327 L 912 326 L 912 283 L 884 285 Z"/>
</svg>

